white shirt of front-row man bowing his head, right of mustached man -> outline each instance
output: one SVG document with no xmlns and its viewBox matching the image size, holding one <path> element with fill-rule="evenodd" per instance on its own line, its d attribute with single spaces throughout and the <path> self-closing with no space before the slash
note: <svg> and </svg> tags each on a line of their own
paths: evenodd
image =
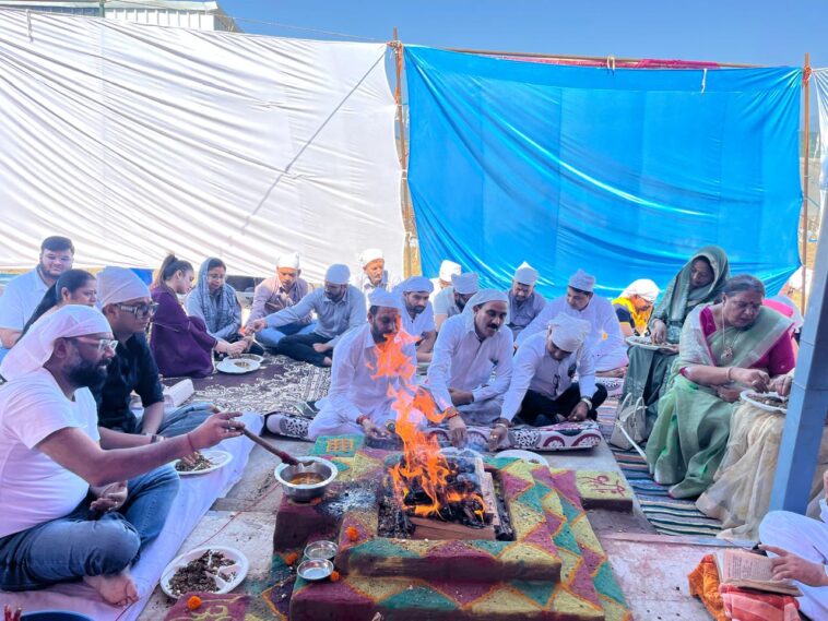
<svg viewBox="0 0 828 621">
<path fill-rule="evenodd" d="M 581 396 L 591 399 L 595 394 L 595 362 L 587 344 L 558 361 L 546 350 L 546 333 L 534 334 L 520 346 L 512 366 L 511 383 L 500 414 L 507 420 L 520 411 L 529 389 L 556 399 L 572 384 L 576 370 Z"/>
</svg>

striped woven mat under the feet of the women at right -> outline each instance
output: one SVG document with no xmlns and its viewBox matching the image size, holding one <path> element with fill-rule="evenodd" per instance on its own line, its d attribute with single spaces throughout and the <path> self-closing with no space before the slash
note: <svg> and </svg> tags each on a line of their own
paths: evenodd
<svg viewBox="0 0 828 621">
<path fill-rule="evenodd" d="M 610 444 L 616 407 L 615 401 L 607 399 L 598 410 L 598 422 L 648 522 L 662 535 L 715 537 L 722 530 L 721 522 L 696 509 L 695 500 L 670 498 L 670 488 L 652 479 L 647 462 L 635 449 L 622 451 Z"/>
</svg>

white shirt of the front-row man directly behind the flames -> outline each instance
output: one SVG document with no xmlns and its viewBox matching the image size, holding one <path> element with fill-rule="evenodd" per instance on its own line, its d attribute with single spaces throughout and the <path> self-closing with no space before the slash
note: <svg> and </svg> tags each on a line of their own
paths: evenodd
<svg viewBox="0 0 828 621">
<path fill-rule="evenodd" d="M 414 369 L 417 366 L 413 345 L 404 347 L 406 363 Z M 331 368 L 331 387 L 321 407 L 333 407 L 342 420 L 356 422 L 359 415 L 368 415 L 374 422 L 381 425 L 394 418 L 391 410 L 393 398 L 388 395 L 389 386 L 401 387 L 399 375 L 395 378 L 371 375 L 377 370 L 377 344 L 371 336 L 370 324 L 352 330 L 342 336 L 333 354 Z"/>
</svg>

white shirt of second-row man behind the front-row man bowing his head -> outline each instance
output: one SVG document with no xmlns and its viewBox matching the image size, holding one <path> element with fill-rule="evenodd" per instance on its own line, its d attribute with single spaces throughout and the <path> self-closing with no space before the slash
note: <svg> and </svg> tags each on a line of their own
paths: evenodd
<svg viewBox="0 0 828 621">
<path fill-rule="evenodd" d="M 545 332 L 549 322 L 561 312 L 569 317 L 588 321 L 592 326 L 592 331 L 587 337 L 585 345 L 588 345 L 592 351 L 598 367 L 603 368 L 601 367 L 600 360 L 605 357 L 611 359 L 617 358 L 620 360 L 617 366 L 626 363 L 627 346 L 624 343 L 624 335 L 620 331 L 618 317 L 615 314 L 613 303 L 606 298 L 601 298 L 599 296 L 592 296 L 590 303 L 580 311 L 575 310 L 569 306 L 566 301 L 566 296 L 549 300 L 541 311 L 541 314 L 539 314 L 532 323 L 524 327 L 518 335 L 518 345 L 522 346 L 527 338 L 533 334 Z M 604 334 L 606 334 L 606 338 L 604 338 Z"/>
</svg>

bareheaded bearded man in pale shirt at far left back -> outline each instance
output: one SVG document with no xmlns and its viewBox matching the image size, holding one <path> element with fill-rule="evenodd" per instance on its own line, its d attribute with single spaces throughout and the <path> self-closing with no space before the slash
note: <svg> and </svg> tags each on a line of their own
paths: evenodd
<svg viewBox="0 0 828 621">
<path fill-rule="evenodd" d="M 74 246 L 67 237 L 47 237 L 37 267 L 9 280 L 0 296 L 0 360 L 17 342 L 28 318 L 60 275 L 72 268 Z"/>
</svg>

